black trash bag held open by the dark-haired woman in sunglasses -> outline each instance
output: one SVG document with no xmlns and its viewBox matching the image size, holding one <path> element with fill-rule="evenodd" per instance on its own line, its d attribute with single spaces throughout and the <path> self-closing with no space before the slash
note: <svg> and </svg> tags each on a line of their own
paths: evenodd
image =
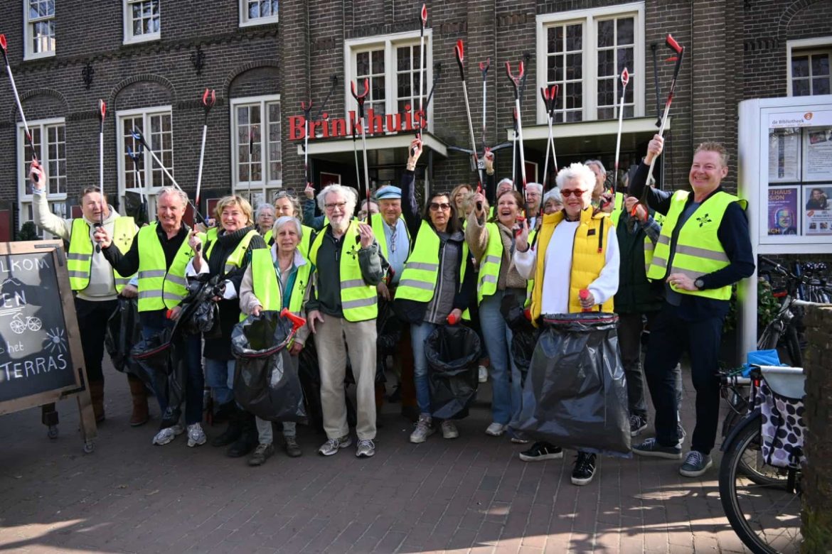
<svg viewBox="0 0 832 554">
<path fill-rule="evenodd" d="M 431 414 L 458 419 L 477 397 L 479 337 L 460 325 L 438 326 L 424 345 L 428 358 Z"/>
</svg>

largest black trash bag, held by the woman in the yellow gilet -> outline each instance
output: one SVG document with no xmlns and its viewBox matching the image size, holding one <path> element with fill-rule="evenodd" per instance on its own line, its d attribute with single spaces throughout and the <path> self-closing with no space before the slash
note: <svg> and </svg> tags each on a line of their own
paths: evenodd
<svg viewBox="0 0 832 554">
<path fill-rule="evenodd" d="M 543 317 L 509 427 L 522 439 L 631 457 L 618 316 L 597 311 Z"/>
</svg>

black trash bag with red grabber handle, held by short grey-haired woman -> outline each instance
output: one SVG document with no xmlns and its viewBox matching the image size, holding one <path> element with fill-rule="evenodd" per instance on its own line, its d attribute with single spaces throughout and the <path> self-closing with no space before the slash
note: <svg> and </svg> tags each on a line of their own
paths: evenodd
<svg viewBox="0 0 832 554">
<path fill-rule="evenodd" d="M 304 393 L 287 346 L 292 323 L 277 311 L 248 316 L 234 326 L 231 350 L 237 358 L 234 399 L 260 419 L 306 421 Z"/>
</svg>

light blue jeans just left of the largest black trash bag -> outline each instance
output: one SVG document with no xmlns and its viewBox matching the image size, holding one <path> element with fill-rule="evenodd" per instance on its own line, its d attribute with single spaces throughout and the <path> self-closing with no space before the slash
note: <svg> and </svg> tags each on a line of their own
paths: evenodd
<svg viewBox="0 0 832 554">
<path fill-rule="evenodd" d="M 497 291 L 492 296 L 483 298 L 479 305 L 479 323 L 491 359 L 491 414 L 494 423 L 503 425 L 508 424 L 513 414 L 520 409 L 522 392 L 520 370 L 514 365 L 511 355 L 513 334 L 500 313 L 500 304 L 506 293 L 514 294 L 513 290 Z"/>
</svg>

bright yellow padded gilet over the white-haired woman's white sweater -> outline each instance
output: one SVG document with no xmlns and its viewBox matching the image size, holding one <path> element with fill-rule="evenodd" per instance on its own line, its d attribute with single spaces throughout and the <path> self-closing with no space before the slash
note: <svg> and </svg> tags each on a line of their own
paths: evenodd
<svg viewBox="0 0 832 554">
<path fill-rule="evenodd" d="M 555 227 L 563 220 L 563 212 L 549 213 L 543 216 L 540 236 L 537 238 L 537 263 L 535 267 L 534 286 L 532 288 L 532 323 L 537 324 L 541 315 L 543 269 L 546 266 L 546 249 L 552 239 Z M 572 245 L 572 271 L 569 274 L 569 313 L 583 311 L 578 296 L 582 288 L 595 281 L 607 263 L 607 233 L 609 232 L 609 213 L 593 213 L 592 208 L 581 212 L 581 223 L 575 231 L 575 243 Z M 601 311 L 612 312 L 612 297 L 604 302 Z"/>
</svg>

